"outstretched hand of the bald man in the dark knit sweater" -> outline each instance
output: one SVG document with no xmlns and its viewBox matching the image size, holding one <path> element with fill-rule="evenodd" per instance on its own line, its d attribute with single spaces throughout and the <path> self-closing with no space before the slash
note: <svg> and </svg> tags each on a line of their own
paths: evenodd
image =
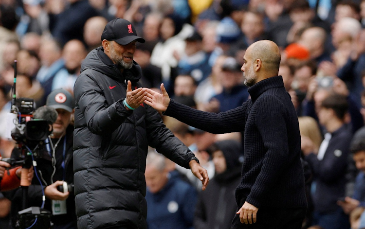
<svg viewBox="0 0 365 229">
<path fill-rule="evenodd" d="M 153 108 L 155 108 L 158 111 L 166 111 L 167 106 L 170 103 L 170 97 L 167 94 L 167 91 L 164 87 L 164 84 L 161 84 L 161 91 L 162 94 L 151 90 L 149 88 L 145 88 L 147 91 L 147 98 L 145 100 L 145 103 L 149 106 L 152 106 Z"/>
</svg>

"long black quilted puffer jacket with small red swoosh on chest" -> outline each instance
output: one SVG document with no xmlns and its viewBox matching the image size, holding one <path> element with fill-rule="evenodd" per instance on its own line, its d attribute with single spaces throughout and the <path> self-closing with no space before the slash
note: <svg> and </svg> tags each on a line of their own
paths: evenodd
<svg viewBox="0 0 365 229">
<path fill-rule="evenodd" d="M 123 106 L 127 86 L 140 87 L 135 63 L 123 74 L 103 52 L 88 54 L 74 86 L 74 185 L 79 229 L 146 229 L 146 155 L 150 145 L 185 168 L 194 154 L 146 104 Z"/>
</svg>

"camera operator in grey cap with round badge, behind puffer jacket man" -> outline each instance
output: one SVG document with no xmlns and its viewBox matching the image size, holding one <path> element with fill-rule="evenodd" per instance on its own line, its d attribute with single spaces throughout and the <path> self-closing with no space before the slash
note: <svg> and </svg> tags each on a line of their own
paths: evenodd
<svg viewBox="0 0 365 229">
<path fill-rule="evenodd" d="M 46 151 L 37 159 L 37 172 L 42 181 L 46 202 L 44 209 L 52 212 L 53 229 L 76 229 L 76 214 L 73 194 L 73 117 L 74 99 L 65 89 L 55 89 L 47 97 L 46 106 L 57 111 L 53 133 L 46 140 Z M 44 114 L 47 116 L 47 114 Z M 69 192 L 63 190 L 67 182 Z M 57 189 L 58 188 L 58 189 Z M 61 188 L 61 189 L 60 189 Z M 12 216 L 21 211 L 21 191 L 17 190 L 12 200 Z M 42 204 L 41 186 L 37 179 L 28 189 L 28 207 Z"/>
</svg>

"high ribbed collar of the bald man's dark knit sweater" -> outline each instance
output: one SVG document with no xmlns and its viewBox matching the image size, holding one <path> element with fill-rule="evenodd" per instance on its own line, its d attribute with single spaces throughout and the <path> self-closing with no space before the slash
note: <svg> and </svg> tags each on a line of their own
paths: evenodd
<svg viewBox="0 0 365 229">
<path fill-rule="evenodd" d="M 283 77 L 273 76 L 260 82 L 256 83 L 255 85 L 248 88 L 248 92 L 251 95 L 252 101 L 256 101 L 256 99 L 266 90 L 270 88 L 284 88 Z"/>
</svg>

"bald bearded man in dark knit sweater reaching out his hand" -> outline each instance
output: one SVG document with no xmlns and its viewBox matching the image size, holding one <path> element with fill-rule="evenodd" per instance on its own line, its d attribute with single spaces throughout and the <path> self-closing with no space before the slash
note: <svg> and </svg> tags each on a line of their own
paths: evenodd
<svg viewBox="0 0 365 229">
<path fill-rule="evenodd" d="M 280 58 L 272 41 L 248 47 L 241 70 L 251 99 L 219 114 L 170 100 L 164 85 L 163 94 L 147 89 L 145 103 L 164 115 L 214 134 L 244 132 L 245 160 L 231 229 L 301 229 L 305 217 L 299 124 L 278 76 Z"/>
</svg>

